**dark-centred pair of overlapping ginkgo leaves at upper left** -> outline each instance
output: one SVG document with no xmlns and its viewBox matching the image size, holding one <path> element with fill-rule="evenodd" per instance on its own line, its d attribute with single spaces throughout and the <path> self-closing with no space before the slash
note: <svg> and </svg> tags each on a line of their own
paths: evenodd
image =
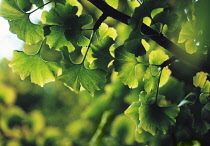
<svg viewBox="0 0 210 146">
<path fill-rule="evenodd" d="M 89 40 L 82 35 L 81 28 L 83 25 L 91 23 L 92 18 L 89 15 L 81 15 L 78 17 L 76 15 L 77 11 L 78 8 L 75 6 L 57 4 L 56 7 L 52 8 L 49 12 L 43 13 L 42 18 L 44 23 L 54 25 L 47 36 L 46 43 L 49 46 L 54 49 L 60 49 L 66 46 L 69 51 L 72 52 L 74 50 L 73 45 L 88 45 Z M 56 36 L 57 32 L 59 33 Z"/>
</svg>

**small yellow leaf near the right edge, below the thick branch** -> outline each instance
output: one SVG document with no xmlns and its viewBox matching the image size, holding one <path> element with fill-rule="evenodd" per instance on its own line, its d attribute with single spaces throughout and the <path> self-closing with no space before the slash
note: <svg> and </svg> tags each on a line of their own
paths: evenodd
<svg viewBox="0 0 210 146">
<path fill-rule="evenodd" d="M 208 75 L 207 73 L 198 72 L 196 76 L 193 77 L 193 85 L 195 87 L 203 88 L 207 79 L 207 75 Z"/>
</svg>

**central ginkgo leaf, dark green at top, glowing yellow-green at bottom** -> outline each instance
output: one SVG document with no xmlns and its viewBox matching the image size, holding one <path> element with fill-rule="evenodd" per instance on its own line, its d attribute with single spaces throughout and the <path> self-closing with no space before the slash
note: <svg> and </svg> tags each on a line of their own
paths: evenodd
<svg viewBox="0 0 210 146">
<path fill-rule="evenodd" d="M 135 55 L 127 52 L 123 46 L 115 50 L 115 70 L 118 72 L 121 81 L 130 88 L 138 86 L 138 78 L 136 77 L 137 64 L 138 61 Z"/>
</svg>

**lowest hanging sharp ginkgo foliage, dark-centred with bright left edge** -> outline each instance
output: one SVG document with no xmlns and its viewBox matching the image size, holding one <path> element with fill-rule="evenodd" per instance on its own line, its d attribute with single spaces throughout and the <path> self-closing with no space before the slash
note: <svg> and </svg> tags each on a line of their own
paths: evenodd
<svg viewBox="0 0 210 146">
<path fill-rule="evenodd" d="M 169 126 L 175 124 L 179 108 L 176 105 L 160 107 L 156 103 L 149 104 L 153 95 L 140 93 L 140 100 L 132 103 L 125 114 L 137 125 L 137 131 L 147 131 L 155 135 L 157 131 L 167 132 Z"/>
</svg>

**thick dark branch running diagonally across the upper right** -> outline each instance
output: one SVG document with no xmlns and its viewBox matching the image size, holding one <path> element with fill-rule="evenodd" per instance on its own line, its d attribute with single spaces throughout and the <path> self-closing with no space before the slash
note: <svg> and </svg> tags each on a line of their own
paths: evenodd
<svg viewBox="0 0 210 146">
<path fill-rule="evenodd" d="M 122 23 L 128 24 L 128 20 L 131 18 L 130 16 L 112 8 L 106 2 L 102 0 L 88 0 L 93 5 L 95 5 L 98 9 L 100 9 L 105 15 L 110 16 Z M 179 46 L 171 42 L 165 36 L 159 34 L 149 26 L 144 23 L 141 26 L 141 31 L 145 35 L 148 35 L 152 40 L 154 40 L 157 44 L 171 52 L 176 59 L 182 61 L 183 63 L 190 66 L 192 69 L 196 71 L 206 71 L 210 73 L 209 69 L 206 66 L 203 66 L 204 57 L 202 55 L 194 54 L 190 55 L 181 49 Z M 196 59 L 195 59 L 196 58 Z"/>
</svg>

